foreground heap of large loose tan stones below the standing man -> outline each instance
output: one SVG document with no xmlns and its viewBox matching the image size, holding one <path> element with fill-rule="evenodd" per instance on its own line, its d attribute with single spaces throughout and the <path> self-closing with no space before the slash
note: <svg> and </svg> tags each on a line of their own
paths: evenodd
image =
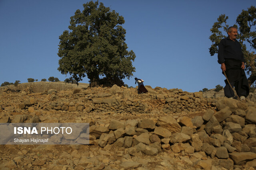
<svg viewBox="0 0 256 170">
<path fill-rule="evenodd" d="M 253 102 L 222 99 L 217 112 L 209 109 L 194 118 L 172 116 L 110 121 L 107 127 L 91 126 L 100 147 L 125 147 L 130 155 L 154 156 L 171 150 L 192 158 L 195 168 L 212 166 L 232 169 L 256 166 L 256 108 Z M 101 134 L 101 135 L 100 135 Z M 247 166 L 246 165 L 246 166 Z"/>
</svg>

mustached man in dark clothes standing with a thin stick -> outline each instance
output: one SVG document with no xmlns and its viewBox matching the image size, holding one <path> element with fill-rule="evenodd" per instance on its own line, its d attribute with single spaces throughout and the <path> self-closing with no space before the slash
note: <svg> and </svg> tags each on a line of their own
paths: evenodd
<svg viewBox="0 0 256 170">
<path fill-rule="evenodd" d="M 242 47 L 236 40 L 237 34 L 236 27 L 228 28 L 228 37 L 222 39 L 219 44 L 218 63 L 221 64 L 222 74 L 226 73 L 231 86 L 235 86 L 237 95 L 241 100 L 244 100 L 249 94 L 249 85 L 244 72 Z M 234 96 L 234 92 L 227 80 L 225 80 L 225 83 L 224 94 L 231 98 Z"/>
</svg>

